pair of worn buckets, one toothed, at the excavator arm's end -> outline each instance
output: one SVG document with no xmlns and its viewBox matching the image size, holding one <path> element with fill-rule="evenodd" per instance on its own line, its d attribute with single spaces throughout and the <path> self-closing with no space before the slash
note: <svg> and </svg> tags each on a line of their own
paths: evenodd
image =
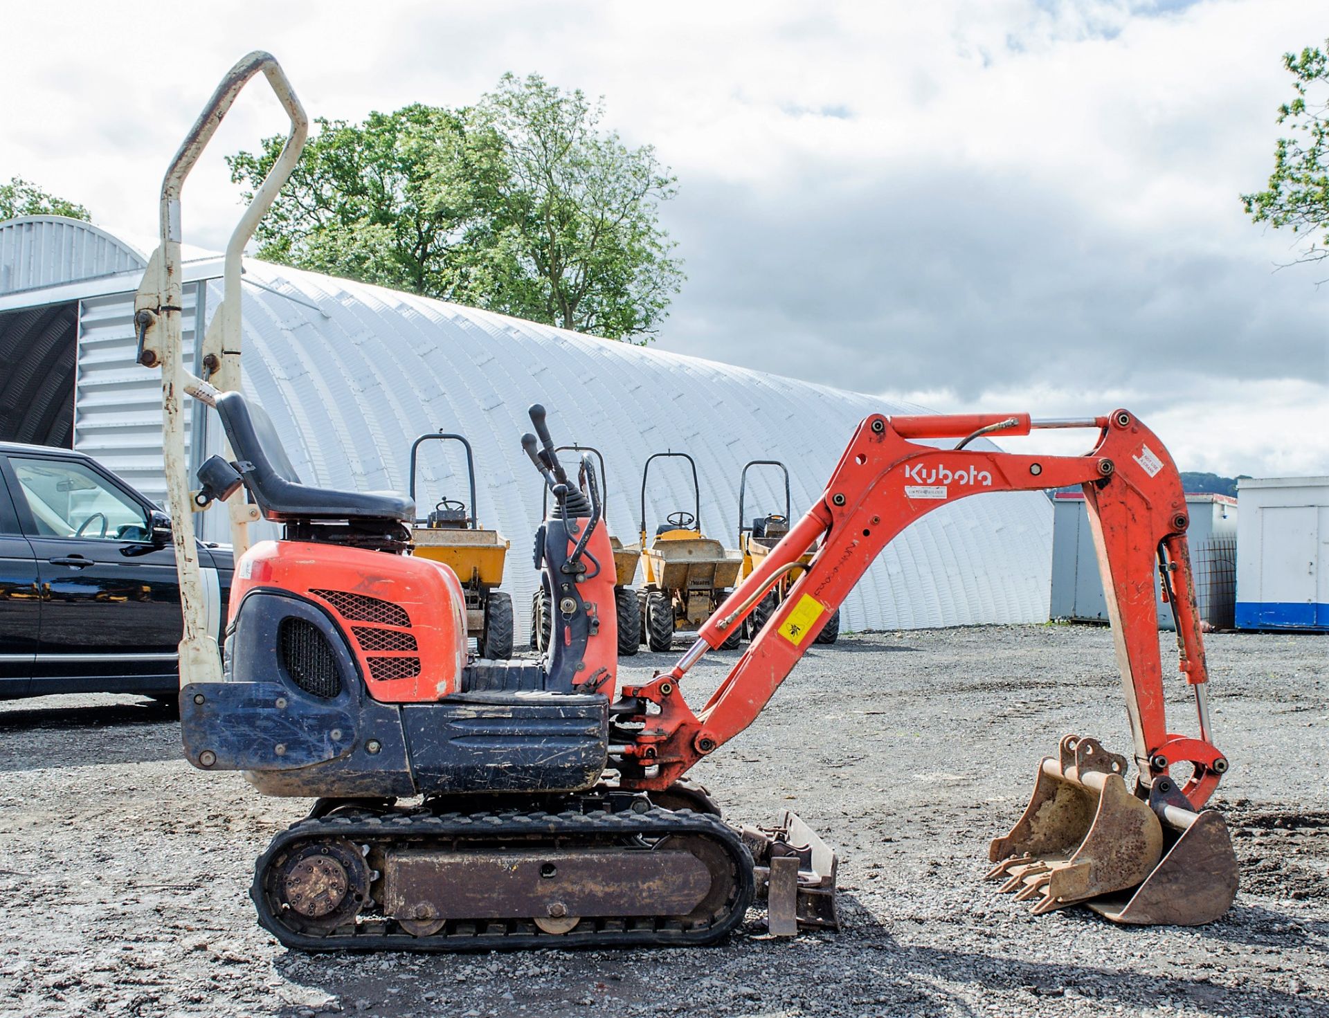
<svg viewBox="0 0 1329 1018">
<path fill-rule="evenodd" d="M 1193 926 L 1232 904 L 1237 864 L 1223 817 L 1196 813 L 1167 777 L 1150 801 L 1126 787 L 1126 758 L 1067 735 L 1046 759 L 1023 816 L 993 840 L 989 878 L 1034 900 L 1034 913 L 1076 902 L 1114 922 Z M 1166 852 L 1166 855 L 1164 855 Z M 1107 896 L 1107 897 L 1104 897 Z"/>
</svg>

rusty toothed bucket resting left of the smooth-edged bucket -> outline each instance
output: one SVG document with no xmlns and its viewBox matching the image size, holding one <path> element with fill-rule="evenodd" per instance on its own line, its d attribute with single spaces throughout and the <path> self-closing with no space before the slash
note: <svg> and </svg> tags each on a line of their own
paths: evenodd
<svg viewBox="0 0 1329 1018">
<path fill-rule="evenodd" d="M 1142 882 L 1163 855 L 1163 827 L 1126 788 L 1126 759 L 1067 735 L 1042 762 L 1023 816 L 991 843 L 1002 892 L 1042 914 Z"/>
</svg>

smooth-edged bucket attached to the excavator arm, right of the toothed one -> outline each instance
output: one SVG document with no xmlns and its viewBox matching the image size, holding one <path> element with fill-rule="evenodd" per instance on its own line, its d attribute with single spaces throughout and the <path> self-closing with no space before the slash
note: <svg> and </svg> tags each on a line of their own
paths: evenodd
<svg viewBox="0 0 1329 1018">
<path fill-rule="evenodd" d="M 1163 861 L 1130 894 L 1088 906 L 1112 922 L 1199 926 L 1231 908 L 1237 893 L 1237 857 L 1223 816 L 1215 809 L 1192 812 L 1170 779 L 1154 783 L 1150 804 L 1163 821 L 1168 845 Z"/>
</svg>

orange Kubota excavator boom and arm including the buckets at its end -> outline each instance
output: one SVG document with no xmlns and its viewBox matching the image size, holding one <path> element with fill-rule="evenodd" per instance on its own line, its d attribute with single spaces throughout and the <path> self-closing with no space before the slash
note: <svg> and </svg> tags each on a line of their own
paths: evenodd
<svg viewBox="0 0 1329 1018">
<path fill-rule="evenodd" d="M 987 433 L 1070 427 L 1099 432 L 1088 453 L 968 448 Z M 938 448 L 918 441 L 925 439 L 960 441 Z M 1003 889 L 1018 890 L 1022 900 L 1037 897 L 1035 912 L 1131 888 L 1139 888 L 1134 897 L 1099 910 L 1120 922 L 1183 924 L 1225 912 L 1236 893 L 1227 829 L 1216 815 L 1195 812 L 1228 762 L 1211 740 L 1185 494 L 1158 436 L 1124 409 L 1055 421 L 1027 415 L 864 420 L 821 498 L 700 627 L 682 659 L 649 684 L 625 687 L 625 699 L 638 706 L 635 714 L 625 712 L 641 727 L 623 738 L 623 787 L 666 788 L 751 724 L 877 554 L 912 522 L 973 494 L 1067 485 L 1080 485 L 1088 504 L 1138 776 L 1132 795 L 1124 758 L 1092 739 L 1063 739 L 1058 758 L 1041 765 L 1025 816 L 993 843 L 998 866 L 990 876 L 1003 878 Z M 694 712 L 679 694 L 687 671 L 724 643 L 775 582 L 800 569 L 800 557 L 813 546 L 811 565 L 775 615 Z M 1176 619 L 1179 670 L 1195 692 L 1196 736 L 1170 731 L 1164 714 L 1155 567 Z M 1187 771 L 1180 788 L 1171 777 L 1176 767 Z"/>
</svg>

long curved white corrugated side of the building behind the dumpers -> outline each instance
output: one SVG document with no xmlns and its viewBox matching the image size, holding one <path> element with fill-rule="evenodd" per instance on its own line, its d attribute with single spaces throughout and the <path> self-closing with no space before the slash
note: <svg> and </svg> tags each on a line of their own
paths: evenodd
<svg viewBox="0 0 1329 1018">
<path fill-rule="evenodd" d="M 287 295 L 245 287 L 243 363 L 247 391 L 291 437 L 296 469 L 320 485 L 404 490 L 417 433 L 468 435 L 480 518 L 513 544 L 504 586 L 521 621 L 536 586 L 528 545 L 541 506 L 518 443 L 528 404 L 549 408 L 558 441 L 605 453 L 613 533 L 635 541 L 642 464 L 675 449 L 696 457 L 702 522 L 730 546 L 744 462 L 784 460 L 799 514 L 859 420 L 920 409 L 284 267 L 249 262 L 246 272 Z M 214 282 L 209 307 L 219 299 Z M 424 492 L 443 480 L 457 497 L 460 462 L 425 468 Z M 691 506 L 682 469 L 655 478 L 653 468 L 649 522 Z M 780 506 L 775 472 L 752 481 L 750 513 Z M 932 513 L 863 578 L 845 629 L 1046 621 L 1051 513 L 1042 493 L 975 496 Z"/>
</svg>

